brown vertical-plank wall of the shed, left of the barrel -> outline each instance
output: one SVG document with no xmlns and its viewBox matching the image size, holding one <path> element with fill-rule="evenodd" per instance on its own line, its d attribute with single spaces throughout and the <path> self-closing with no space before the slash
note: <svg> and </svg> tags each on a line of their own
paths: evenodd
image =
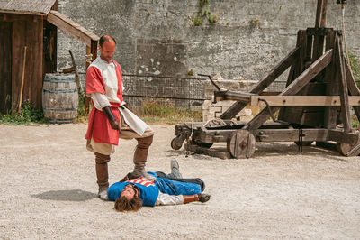
<svg viewBox="0 0 360 240">
<path fill-rule="evenodd" d="M 43 17 L 37 15 L 0 14 L 1 22 L 13 24 L 13 73 L 12 110 L 16 110 L 20 100 L 23 74 L 23 48 L 26 45 L 25 80 L 23 100 L 29 99 L 35 107 L 41 107 Z"/>
</svg>

